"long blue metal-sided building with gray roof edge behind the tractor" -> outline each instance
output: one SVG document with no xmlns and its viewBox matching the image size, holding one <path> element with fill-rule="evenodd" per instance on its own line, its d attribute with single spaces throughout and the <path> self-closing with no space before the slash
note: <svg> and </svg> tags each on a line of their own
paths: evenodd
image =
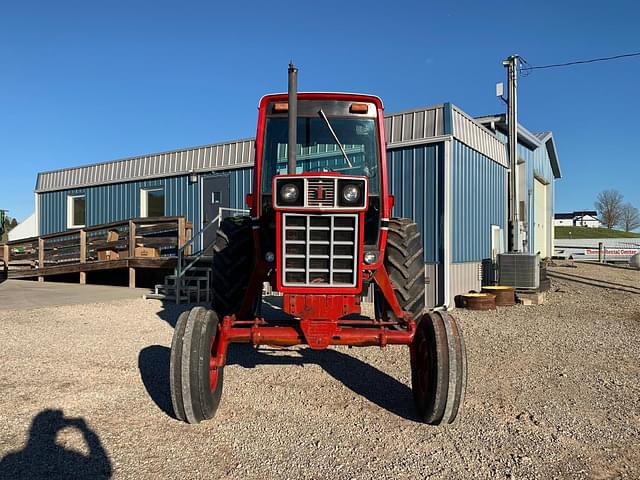
<svg viewBox="0 0 640 480">
<path fill-rule="evenodd" d="M 479 289 L 483 264 L 506 245 L 508 160 L 502 124 L 499 117 L 481 121 L 486 127 L 450 103 L 385 118 L 394 216 L 420 225 L 431 307 L 453 306 L 456 295 Z M 521 149 L 531 171 L 528 185 L 538 178 L 551 185 L 540 214 L 545 218 L 552 215 L 553 178 L 559 177 L 553 138 L 546 135 L 523 135 Z M 253 161 L 254 141 L 245 139 L 40 173 L 38 234 L 152 216 L 152 211 L 184 215 L 197 230 L 220 207 L 244 207 Z M 530 228 L 536 228 L 538 196 L 536 190 L 527 204 L 534 221 Z M 532 238 L 546 235 L 550 246 L 552 230 L 541 228 Z"/>
</svg>

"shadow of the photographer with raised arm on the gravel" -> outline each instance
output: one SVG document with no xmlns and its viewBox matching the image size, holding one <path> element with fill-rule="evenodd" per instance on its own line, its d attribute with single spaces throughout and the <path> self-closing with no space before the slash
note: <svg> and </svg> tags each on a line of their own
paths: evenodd
<svg viewBox="0 0 640 480">
<path fill-rule="evenodd" d="M 56 443 L 62 429 L 82 434 L 88 455 Z M 62 410 L 43 410 L 33 418 L 27 445 L 0 460 L 0 479 L 111 478 L 109 455 L 83 418 L 65 417 Z"/>
</svg>

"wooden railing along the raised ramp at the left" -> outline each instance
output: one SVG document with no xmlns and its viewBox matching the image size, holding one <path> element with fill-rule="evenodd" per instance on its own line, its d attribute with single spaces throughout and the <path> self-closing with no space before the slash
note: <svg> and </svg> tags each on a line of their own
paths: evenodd
<svg viewBox="0 0 640 480">
<path fill-rule="evenodd" d="M 192 232 L 184 217 L 133 218 L 7 242 L 0 256 L 11 269 L 176 256 Z"/>
</svg>

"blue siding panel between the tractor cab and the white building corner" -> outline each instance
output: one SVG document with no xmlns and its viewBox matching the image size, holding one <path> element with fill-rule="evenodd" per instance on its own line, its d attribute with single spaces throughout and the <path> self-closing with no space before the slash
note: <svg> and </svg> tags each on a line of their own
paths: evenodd
<svg viewBox="0 0 640 480">
<path fill-rule="evenodd" d="M 442 259 L 444 144 L 387 151 L 394 217 L 415 219 L 426 263 Z"/>
</svg>

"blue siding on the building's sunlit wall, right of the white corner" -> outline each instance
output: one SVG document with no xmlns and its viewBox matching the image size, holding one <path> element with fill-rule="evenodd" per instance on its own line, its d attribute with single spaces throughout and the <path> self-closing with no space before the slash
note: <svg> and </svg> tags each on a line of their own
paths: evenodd
<svg viewBox="0 0 640 480">
<path fill-rule="evenodd" d="M 490 258 L 491 225 L 505 228 L 507 170 L 454 140 L 452 177 L 452 261 Z"/>
</svg>

